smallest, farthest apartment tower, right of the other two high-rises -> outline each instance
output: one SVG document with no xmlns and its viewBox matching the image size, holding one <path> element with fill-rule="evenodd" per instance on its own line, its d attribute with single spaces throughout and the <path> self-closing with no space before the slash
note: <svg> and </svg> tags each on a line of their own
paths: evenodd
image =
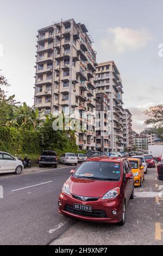
<svg viewBox="0 0 163 256">
<path fill-rule="evenodd" d="M 123 143 L 124 149 L 132 148 L 132 115 L 128 109 L 123 110 Z"/>
</svg>

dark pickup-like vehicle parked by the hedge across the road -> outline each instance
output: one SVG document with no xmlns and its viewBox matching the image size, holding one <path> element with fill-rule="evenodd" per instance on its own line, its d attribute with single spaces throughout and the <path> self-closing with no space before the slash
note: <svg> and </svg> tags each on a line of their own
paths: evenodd
<svg viewBox="0 0 163 256">
<path fill-rule="evenodd" d="M 57 154 L 53 150 L 44 150 L 40 156 L 39 167 L 54 166 L 57 168 Z"/>
</svg>

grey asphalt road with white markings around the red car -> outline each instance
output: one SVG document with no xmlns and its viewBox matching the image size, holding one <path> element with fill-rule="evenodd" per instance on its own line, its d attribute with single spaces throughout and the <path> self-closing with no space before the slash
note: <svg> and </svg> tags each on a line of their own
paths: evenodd
<svg viewBox="0 0 163 256">
<path fill-rule="evenodd" d="M 127 208 L 127 221 L 95 224 L 58 214 L 58 196 L 72 166 L 21 175 L 0 175 L 0 245 L 161 245 L 163 201 L 156 197 L 163 182 L 149 169 Z M 155 193 L 153 193 L 155 192 Z"/>
</svg>

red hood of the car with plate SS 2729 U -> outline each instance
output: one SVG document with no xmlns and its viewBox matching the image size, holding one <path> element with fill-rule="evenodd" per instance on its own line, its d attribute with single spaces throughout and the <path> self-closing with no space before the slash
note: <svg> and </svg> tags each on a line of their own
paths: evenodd
<svg viewBox="0 0 163 256">
<path fill-rule="evenodd" d="M 79 179 L 71 177 L 68 179 L 72 194 L 83 197 L 103 197 L 112 188 L 118 187 L 120 181 L 103 181 Z"/>
</svg>

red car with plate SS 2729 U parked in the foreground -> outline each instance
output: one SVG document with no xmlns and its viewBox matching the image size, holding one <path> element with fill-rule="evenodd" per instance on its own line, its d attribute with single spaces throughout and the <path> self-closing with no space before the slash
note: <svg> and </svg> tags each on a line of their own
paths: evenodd
<svg viewBox="0 0 163 256">
<path fill-rule="evenodd" d="M 124 225 L 128 200 L 134 198 L 134 178 L 127 159 L 91 157 L 71 174 L 59 197 L 60 214 Z"/>
</svg>

